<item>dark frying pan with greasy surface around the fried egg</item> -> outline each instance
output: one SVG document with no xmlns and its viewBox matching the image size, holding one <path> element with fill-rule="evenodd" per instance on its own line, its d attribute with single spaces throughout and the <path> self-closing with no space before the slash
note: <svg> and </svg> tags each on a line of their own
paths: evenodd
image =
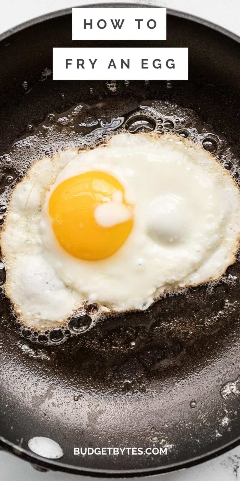
<svg viewBox="0 0 240 481">
<path fill-rule="evenodd" d="M 240 154 L 239 38 L 169 11 L 167 42 L 149 46 L 188 47 L 189 81 L 174 82 L 169 90 L 166 82 L 135 81 L 127 93 L 119 82 L 114 93 L 106 82 L 53 82 L 50 76 L 40 81 L 44 69 L 52 66 L 52 47 L 88 45 L 72 42 L 71 26 L 71 11 L 66 10 L 2 35 L 1 154 L 26 133 L 28 124 L 38 125 L 49 112 L 111 96 L 131 96 L 136 103 L 158 98 L 189 107 L 216 133 L 224 132 Z M 3 184 L 1 179 L 1 189 Z M 140 314 L 114 317 L 104 330 L 90 330 L 78 342 L 74 338 L 56 347 L 20 340 L 2 299 L 1 446 L 43 468 L 120 477 L 191 466 L 237 445 L 237 383 L 229 396 L 220 391 L 240 374 L 239 271 L 238 263 L 229 267 L 213 294 L 202 286 L 190 290 L 188 298 L 166 298 Z M 233 287 L 226 281 L 229 275 L 237 277 Z M 227 318 L 226 299 L 235 303 Z M 27 446 L 33 436 L 57 441 L 64 456 L 57 461 L 36 456 Z M 168 445 L 168 455 L 73 455 L 73 446 L 154 444 Z"/>
</svg>

